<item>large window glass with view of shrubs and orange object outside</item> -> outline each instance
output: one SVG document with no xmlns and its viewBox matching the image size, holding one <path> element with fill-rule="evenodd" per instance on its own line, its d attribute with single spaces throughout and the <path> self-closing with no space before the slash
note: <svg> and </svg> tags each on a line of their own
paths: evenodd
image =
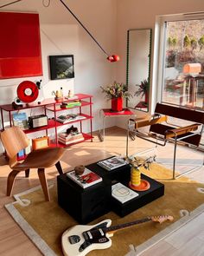
<svg viewBox="0 0 204 256">
<path fill-rule="evenodd" d="M 204 109 L 204 18 L 163 23 L 161 101 Z"/>
</svg>

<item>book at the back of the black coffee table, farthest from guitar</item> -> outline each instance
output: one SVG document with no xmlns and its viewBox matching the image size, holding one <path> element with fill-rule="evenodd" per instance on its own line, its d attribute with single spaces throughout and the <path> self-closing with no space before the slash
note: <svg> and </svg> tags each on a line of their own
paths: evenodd
<svg viewBox="0 0 204 256">
<path fill-rule="evenodd" d="M 124 159 L 118 157 L 118 156 L 113 156 L 112 158 L 108 158 L 102 161 L 98 161 L 97 163 L 100 167 L 105 168 L 107 171 L 112 171 L 113 169 L 116 169 L 118 167 L 123 167 L 127 165 L 128 163 L 124 161 Z"/>
</svg>

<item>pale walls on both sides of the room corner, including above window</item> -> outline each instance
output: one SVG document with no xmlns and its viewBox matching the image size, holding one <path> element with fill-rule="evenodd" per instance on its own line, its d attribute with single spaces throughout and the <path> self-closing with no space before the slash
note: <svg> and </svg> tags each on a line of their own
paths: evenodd
<svg viewBox="0 0 204 256">
<path fill-rule="evenodd" d="M 48 8 L 42 6 L 41 0 L 23 0 L 22 2 L 3 8 L 1 11 L 37 12 L 40 15 L 41 51 L 43 76 L 29 77 L 35 81 L 42 78 L 47 96 L 51 87 L 56 89 L 67 86 L 75 93 L 93 95 L 93 129 L 99 129 L 99 108 L 110 107 L 99 89 L 115 79 L 126 80 L 126 39 L 127 30 L 151 28 L 154 35 L 156 15 L 176 14 L 204 10 L 203 0 L 69 0 L 65 1 L 82 23 L 99 43 L 110 54 L 118 54 L 120 62 L 107 62 L 105 54 L 92 38 L 87 35 L 79 23 L 75 21 L 60 1 L 51 1 Z M 8 3 L 2 0 L 1 4 Z M 153 53 L 154 49 L 152 49 Z M 50 82 L 48 56 L 57 54 L 74 55 L 74 80 Z M 152 67 L 152 66 L 151 66 Z M 23 79 L 7 79 L 0 81 L 0 104 L 12 102 L 16 97 L 17 85 Z M 126 121 L 116 120 L 120 126 Z M 123 119 L 122 119 L 123 120 Z M 106 121 L 106 126 L 115 124 L 114 119 Z"/>
</svg>

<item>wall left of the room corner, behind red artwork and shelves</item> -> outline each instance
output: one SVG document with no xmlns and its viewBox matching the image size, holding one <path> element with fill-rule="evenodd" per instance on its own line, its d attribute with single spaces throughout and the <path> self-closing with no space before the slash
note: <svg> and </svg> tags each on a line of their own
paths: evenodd
<svg viewBox="0 0 204 256">
<path fill-rule="evenodd" d="M 1 4 L 8 3 L 1 1 Z M 116 45 L 116 0 L 69 0 L 65 1 L 73 13 L 110 54 Z M 99 129 L 99 108 L 110 106 L 99 89 L 114 81 L 116 63 L 106 60 L 105 54 L 83 30 L 60 1 L 51 1 L 48 8 L 41 0 L 23 0 L 0 11 L 37 12 L 40 16 L 42 77 L 0 80 L 0 104 L 13 102 L 16 88 L 22 81 L 42 79 L 46 97 L 52 97 L 53 89 L 73 89 L 75 93 L 93 95 L 93 130 Z M 115 52 L 114 52 L 115 53 Z M 48 56 L 73 54 L 75 78 L 50 81 Z M 114 121 L 109 122 L 112 126 Z M 85 127 L 85 131 L 89 126 Z"/>
</svg>

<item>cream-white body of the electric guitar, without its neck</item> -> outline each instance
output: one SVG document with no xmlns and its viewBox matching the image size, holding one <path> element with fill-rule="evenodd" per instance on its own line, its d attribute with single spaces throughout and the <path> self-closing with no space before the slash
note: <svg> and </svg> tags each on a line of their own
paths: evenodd
<svg viewBox="0 0 204 256">
<path fill-rule="evenodd" d="M 103 220 L 93 226 L 77 225 L 62 234 L 61 246 L 65 256 L 84 256 L 92 250 L 112 246 L 111 235 L 103 228 L 111 226 L 112 220 Z"/>
</svg>

